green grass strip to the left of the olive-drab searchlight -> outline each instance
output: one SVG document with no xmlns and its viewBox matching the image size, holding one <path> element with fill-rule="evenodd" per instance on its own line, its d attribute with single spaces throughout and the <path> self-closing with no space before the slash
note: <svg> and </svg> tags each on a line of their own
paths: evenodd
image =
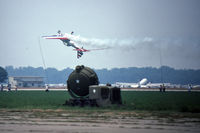
<svg viewBox="0 0 200 133">
<path fill-rule="evenodd" d="M 0 92 L 0 108 L 59 108 L 67 98 L 66 91 Z"/>
</svg>

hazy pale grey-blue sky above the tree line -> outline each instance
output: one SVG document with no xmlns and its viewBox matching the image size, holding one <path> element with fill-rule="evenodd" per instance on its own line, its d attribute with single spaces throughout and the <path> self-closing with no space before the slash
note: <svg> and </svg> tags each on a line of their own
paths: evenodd
<svg viewBox="0 0 200 133">
<path fill-rule="evenodd" d="M 199 0 L 0 0 L 0 66 L 200 69 Z M 72 47 L 41 36 L 74 31 Z M 95 41 L 97 40 L 97 41 Z M 102 43 L 103 42 L 103 43 Z M 42 52 L 40 51 L 40 46 Z"/>
</svg>

